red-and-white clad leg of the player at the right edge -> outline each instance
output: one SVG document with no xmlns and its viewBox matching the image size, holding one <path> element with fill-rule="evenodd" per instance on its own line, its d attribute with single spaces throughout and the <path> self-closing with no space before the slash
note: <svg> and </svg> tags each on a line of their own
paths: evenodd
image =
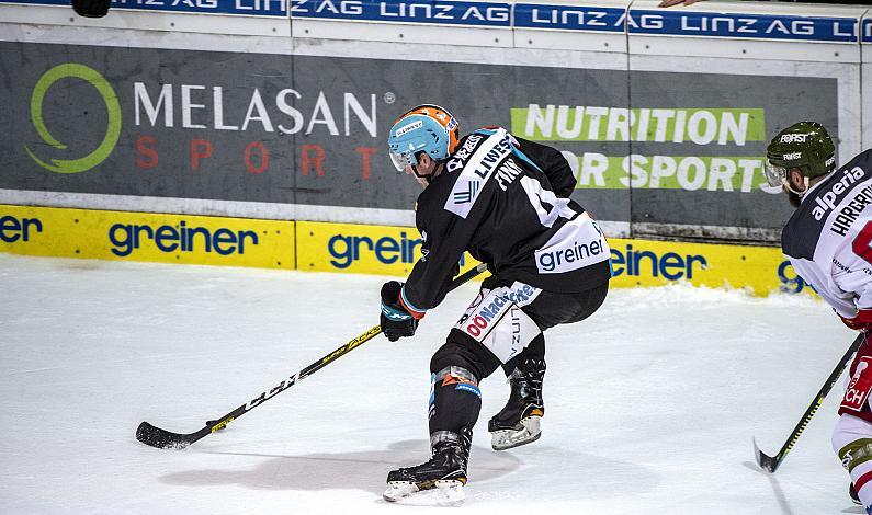
<svg viewBox="0 0 872 515">
<path fill-rule="evenodd" d="M 872 511 L 872 348 L 867 341 L 851 363 L 850 376 L 833 431 L 833 450 L 851 477 L 851 497 Z"/>
</svg>

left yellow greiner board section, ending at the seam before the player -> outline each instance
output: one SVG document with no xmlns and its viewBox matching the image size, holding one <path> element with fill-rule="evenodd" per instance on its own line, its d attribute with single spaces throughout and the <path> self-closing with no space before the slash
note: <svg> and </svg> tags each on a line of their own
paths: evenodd
<svg viewBox="0 0 872 515">
<path fill-rule="evenodd" d="M 0 252 L 295 267 L 294 222 L 0 205 Z"/>
</svg>

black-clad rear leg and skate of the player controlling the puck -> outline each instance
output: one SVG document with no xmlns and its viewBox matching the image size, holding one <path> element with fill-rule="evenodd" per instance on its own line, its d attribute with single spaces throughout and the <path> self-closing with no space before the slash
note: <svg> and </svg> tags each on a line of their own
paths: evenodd
<svg viewBox="0 0 872 515">
<path fill-rule="evenodd" d="M 605 299 L 608 285 L 579 294 L 542 291 L 521 309 L 536 325 L 546 330 L 590 317 Z M 545 414 L 542 386 L 545 377 L 545 337 L 537 335 L 521 354 L 503 365 L 511 391 L 499 413 L 488 422 L 495 450 L 530 444 L 542 436 Z"/>
</svg>

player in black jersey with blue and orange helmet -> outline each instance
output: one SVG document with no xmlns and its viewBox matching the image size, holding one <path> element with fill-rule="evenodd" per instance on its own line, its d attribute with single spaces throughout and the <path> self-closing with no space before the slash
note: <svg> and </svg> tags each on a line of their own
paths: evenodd
<svg viewBox="0 0 872 515">
<path fill-rule="evenodd" d="M 544 414 L 543 331 L 592 314 L 605 299 L 610 250 L 593 219 L 569 195 L 575 176 L 554 148 L 488 127 L 458 139 L 442 107 L 421 105 L 390 128 L 398 171 L 424 186 L 416 225 L 422 256 L 405 283 L 382 287 L 381 323 L 390 341 L 411 336 L 445 297 L 464 251 L 488 265 L 478 296 L 430 362 L 432 458 L 392 471 L 385 499 L 444 488 L 462 499 L 478 382 L 500 366 L 511 384 L 488 430 L 495 449 L 539 438 Z"/>
</svg>

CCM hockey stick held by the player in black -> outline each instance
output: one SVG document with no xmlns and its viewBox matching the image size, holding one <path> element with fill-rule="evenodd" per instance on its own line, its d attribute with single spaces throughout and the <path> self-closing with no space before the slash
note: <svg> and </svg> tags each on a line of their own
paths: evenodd
<svg viewBox="0 0 872 515">
<path fill-rule="evenodd" d="M 463 274 L 458 275 L 451 282 L 449 290 L 452 290 L 458 287 L 460 285 L 468 282 L 469 279 L 472 279 L 473 277 L 475 277 L 476 275 L 480 274 L 486 270 L 487 266 L 484 263 L 482 263 L 475 268 L 471 268 L 464 272 Z M 200 431 L 188 434 L 172 433 L 170 431 L 156 427 L 149 424 L 148 422 L 143 422 L 141 424 L 139 424 L 139 427 L 137 427 L 136 430 L 136 439 L 138 439 L 139 442 L 146 445 L 150 445 L 151 447 L 158 447 L 162 449 L 183 449 L 189 445 L 193 444 L 194 442 L 199 440 L 200 438 L 209 435 L 212 433 L 215 433 L 216 431 L 223 430 L 230 422 L 235 421 L 236 419 L 242 416 L 244 414 L 248 413 L 249 411 L 264 403 L 267 400 L 272 399 L 273 397 L 278 396 L 284 390 L 291 388 L 297 381 L 305 379 L 306 377 L 315 374 L 316 371 L 320 370 L 327 365 L 336 362 L 340 357 L 344 356 L 354 348 L 358 348 L 359 346 L 363 345 L 365 342 L 372 340 L 373 337 L 377 336 L 381 333 L 382 333 L 381 325 L 376 325 L 370 329 L 365 333 L 346 343 L 344 345 L 331 352 L 330 354 L 324 356 L 322 358 L 318 359 L 317 362 L 313 363 L 306 368 L 299 370 L 298 373 L 283 380 L 274 388 L 264 391 L 260 396 L 240 405 L 239 408 L 227 413 L 220 419 L 206 422 L 205 427 L 203 427 Z"/>
</svg>

